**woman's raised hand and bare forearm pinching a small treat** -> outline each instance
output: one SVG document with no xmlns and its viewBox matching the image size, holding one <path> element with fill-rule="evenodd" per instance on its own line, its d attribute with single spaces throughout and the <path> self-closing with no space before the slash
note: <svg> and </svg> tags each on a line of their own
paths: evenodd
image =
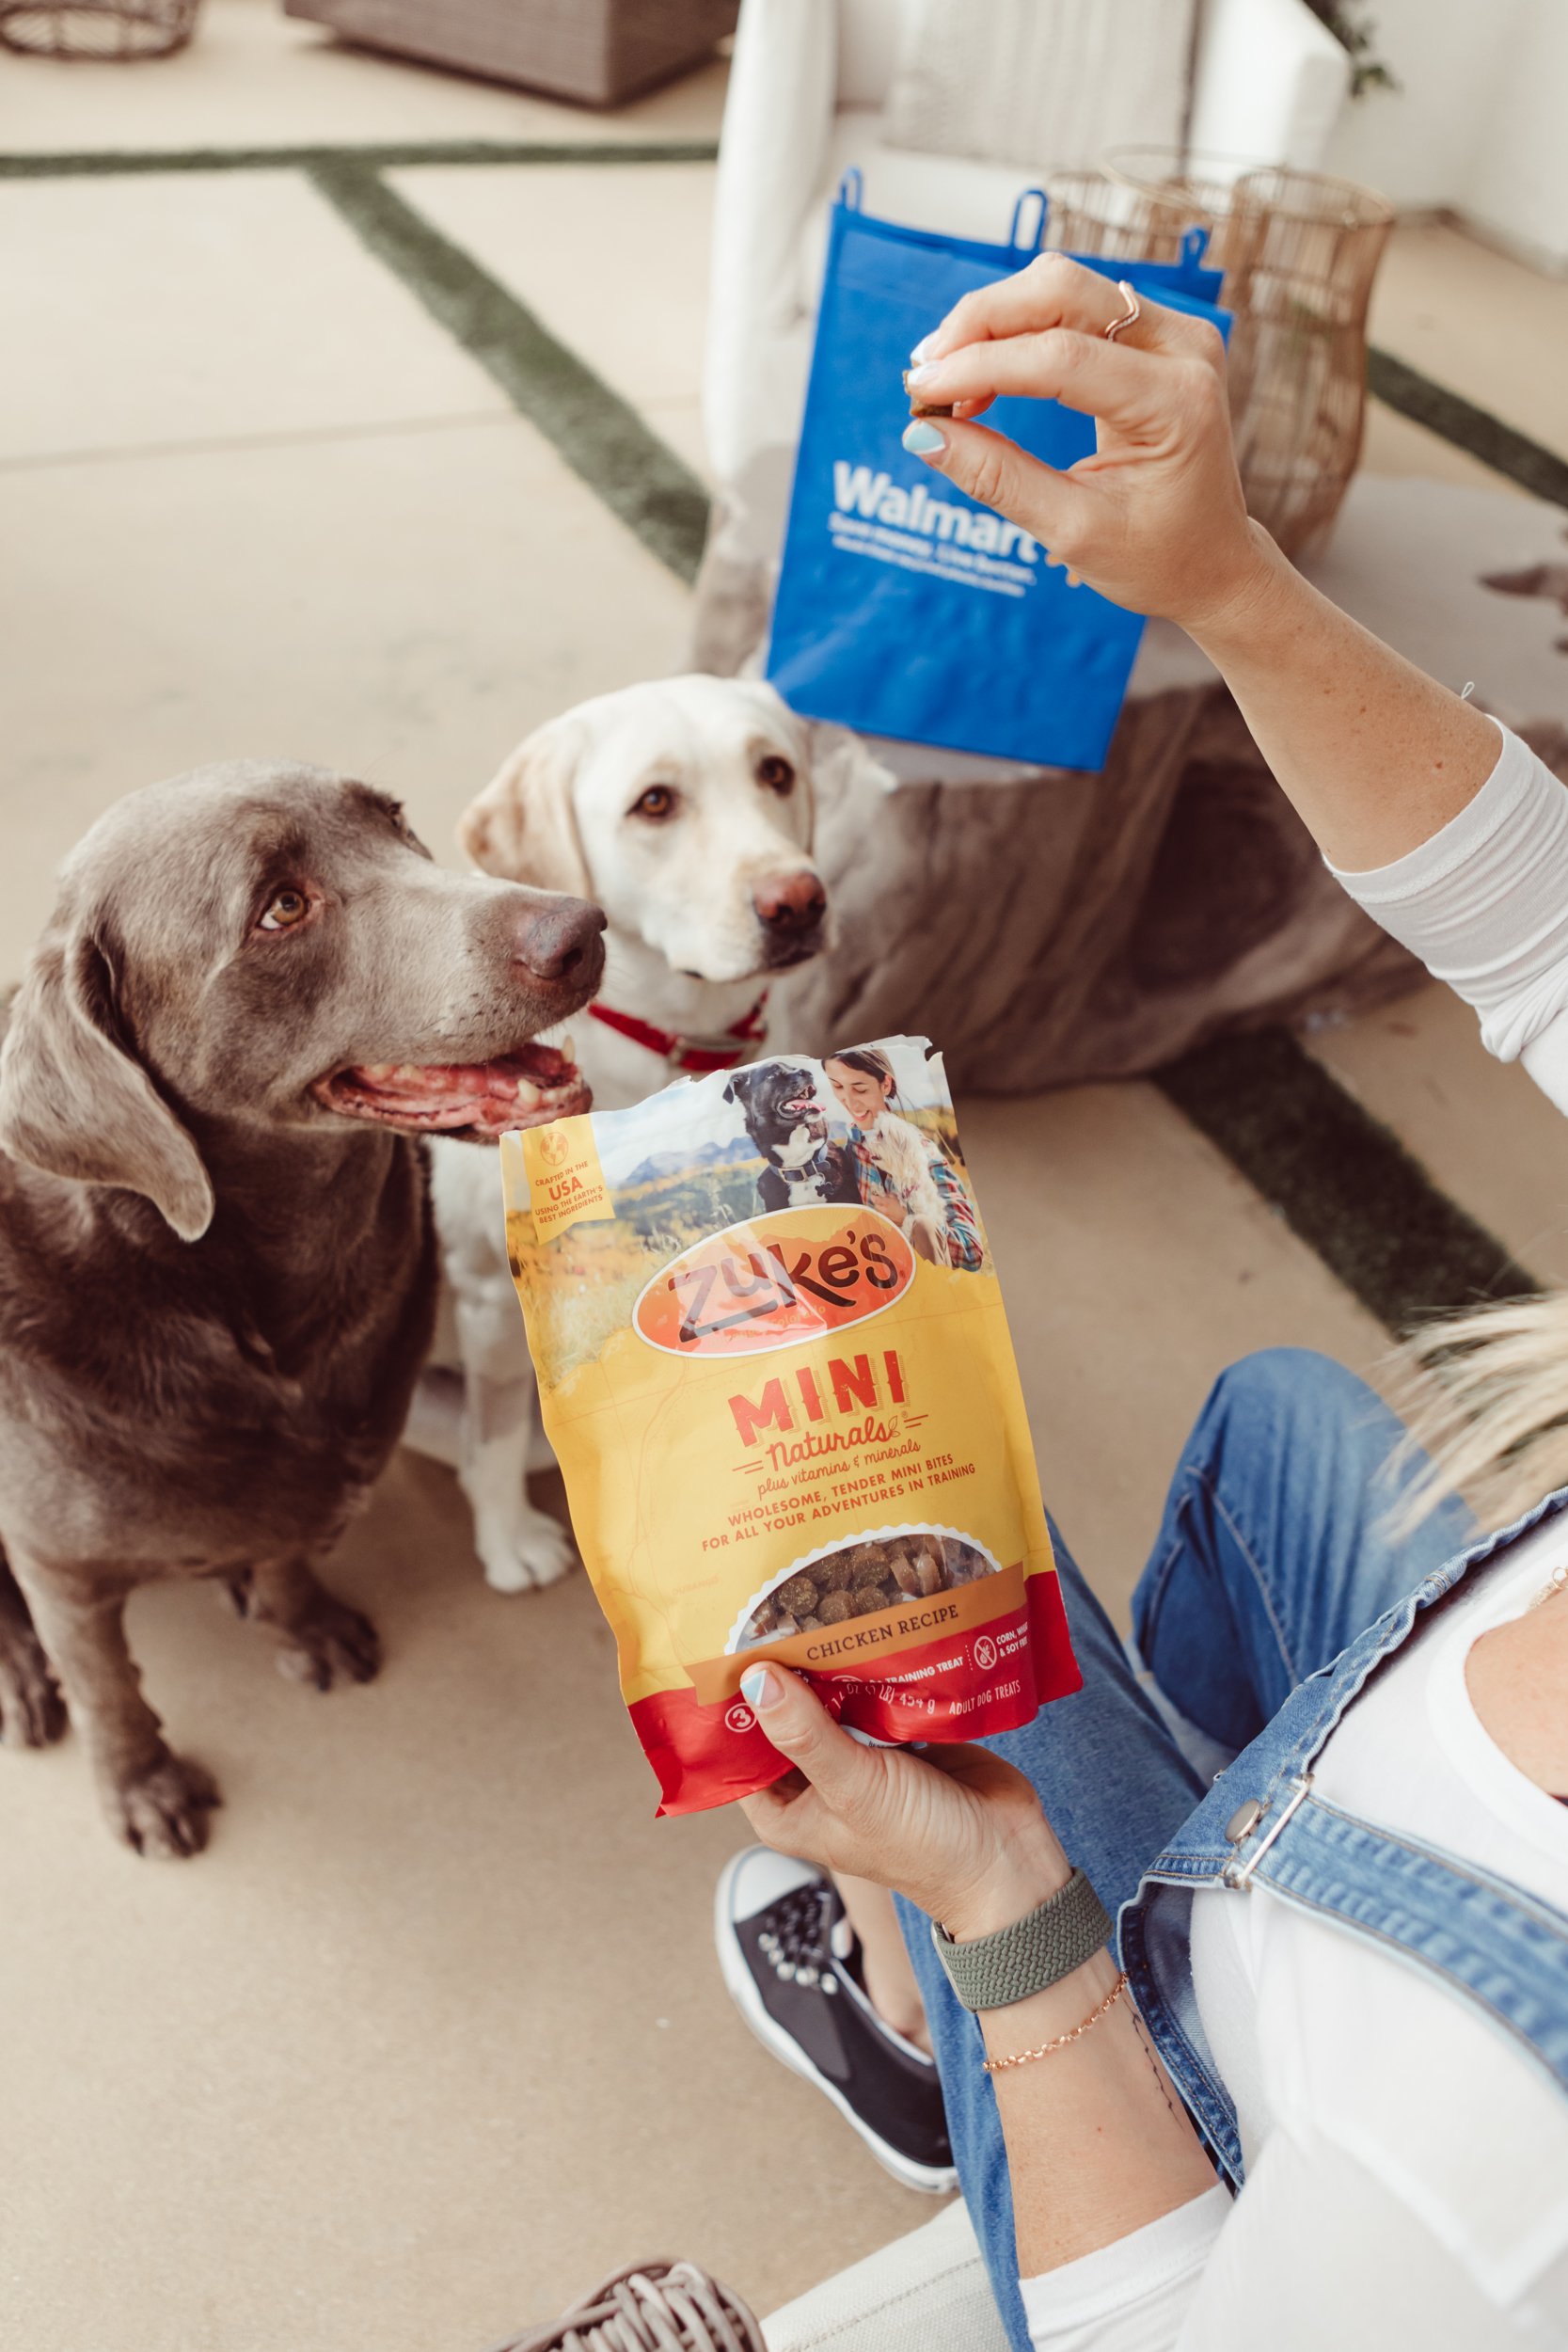
<svg viewBox="0 0 1568 2352">
<path fill-rule="evenodd" d="M 1312 588 L 1251 522 L 1206 320 L 1041 254 L 966 294 L 914 353 L 905 449 L 1023 524 L 1100 595 L 1178 621 L 1229 684 L 1274 776 L 1347 870 L 1387 866 L 1481 790 L 1497 729 Z M 976 423 L 1001 393 L 1091 414 L 1065 473 Z"/>
</svg>

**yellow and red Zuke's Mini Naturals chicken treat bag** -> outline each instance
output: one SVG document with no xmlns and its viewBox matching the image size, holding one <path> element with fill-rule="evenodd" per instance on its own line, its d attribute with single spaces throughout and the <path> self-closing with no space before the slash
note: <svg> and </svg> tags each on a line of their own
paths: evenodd
<svg viewBox="0 0 1568 2352">
<path fill-rule="evenodd" d="M 853 1731 L 969 1740 L 1079 1686 L 940 1056 L 886 1037 L 508 1134 L 571 1522 L 665 1813 L 785 1771 L 778 1658 Z"/>
</svg>

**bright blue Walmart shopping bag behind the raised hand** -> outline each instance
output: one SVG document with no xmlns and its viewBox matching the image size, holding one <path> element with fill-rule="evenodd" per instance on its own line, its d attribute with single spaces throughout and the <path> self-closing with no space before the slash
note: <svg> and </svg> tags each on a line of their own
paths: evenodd
<svg viewBox="0 0 1568 2352">
<path fill-rule="evenodd" d="M 1030 245 L 1020 216 L 1034 212 Z M 1070 588 L 1039 546 L 900 449 L 900 372 L 959 294 L 1020 270 L 1044 238 L 1044 195 L 1013 209 L 1006 245 L 898 228 L 860 209 L 860 174 L 832 207 L 806 416 L 773 604 L 766 675 L 804 717 L 860 734 L 1039 767 L 1105 767 L 1143 621 Z M 1088 261 L 1140 294 L 1229 327 L 1204 233 L 1180 261 Z M 985 423 L 1051 466 L 1095 445 L 1056 400 L 997 400 Z"/>
</svg>

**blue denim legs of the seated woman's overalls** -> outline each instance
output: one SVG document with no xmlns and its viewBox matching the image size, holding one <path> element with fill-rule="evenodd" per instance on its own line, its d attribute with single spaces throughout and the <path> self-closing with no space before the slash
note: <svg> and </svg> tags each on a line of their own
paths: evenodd
<svg viewBox="0 0 1568 2352">
<path fill-rule="evenodd" d="M 1133 1632 L 1166 1698 L 1225 1750 L 1255 1738 L 1307 1675 L 1474 1538 L 1465 1505 L 1446 1501 L 1389 1541 L 1380 1522 L 1418 1468 L 1385 1475 L 1399 1437 L 1363 1381 L 1302 1348 L 1244 1357 L 1215 1381 L 1171 1479 Z M 1053 1541 L 1084 1689 L 987 1745 L 1027 1773 L 1114 1915 L 1206 1790 L 1056 1529 Z M 903 1898 L 898 1910 L 964 2199 L 1009 2338 L 1030 2352 L 980 2027 L 952 1997 L 924 1915 Z"/>
</svg>

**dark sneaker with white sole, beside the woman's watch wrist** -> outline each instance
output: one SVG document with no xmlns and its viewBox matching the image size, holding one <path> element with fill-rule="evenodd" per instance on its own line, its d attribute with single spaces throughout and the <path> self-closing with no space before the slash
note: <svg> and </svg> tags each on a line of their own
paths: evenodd
<svg viewBox="0 0 1568 2352">
<path fill-rule="evenodd" d="M 867 2002 L 832 1879 L 748 1846 L 724 1867 L 712 1924 L 729 1997 L 757 2039 L 832 2100 L 893 2180 L 957 2190 L 936 2063 Z"/>
</svg>

